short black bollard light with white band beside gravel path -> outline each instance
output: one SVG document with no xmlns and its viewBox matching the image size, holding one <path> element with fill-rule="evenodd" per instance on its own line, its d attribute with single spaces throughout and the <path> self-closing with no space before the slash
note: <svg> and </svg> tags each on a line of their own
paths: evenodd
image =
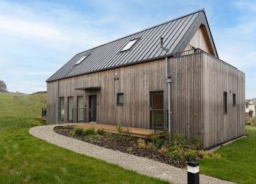
<svg viewBox="0 0 256 184">
<path fill-rule="evenodd" d="M 199 163 L 196 161 L 187 163 L 187 183 L 199 184 Z"/>
</svg>

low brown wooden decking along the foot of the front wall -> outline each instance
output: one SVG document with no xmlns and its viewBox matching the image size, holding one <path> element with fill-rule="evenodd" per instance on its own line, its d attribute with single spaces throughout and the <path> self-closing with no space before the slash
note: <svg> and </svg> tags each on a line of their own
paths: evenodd
<svg viewBox="0 0 256 184">
<path fill-rule="evenodd" d="M 76 126 L 82 126 L 84 128 L 104 128 L 106 132 L 118 133 L 118 126 L 115 125 L 105 125 L 105 124 L 98 124 L 98 123 L 89 123 L 89 122 L 82 122 Z M 164 131 L 157 131 L 154 132 L 154 129 L 144 129 L 144 128 L 134 128 L 134 127 L 122 127 L 122 133 L 124 134 L 131 134 L 138 137 L 150 138 L 151 135 L 163 135 Z"/>
</svg>

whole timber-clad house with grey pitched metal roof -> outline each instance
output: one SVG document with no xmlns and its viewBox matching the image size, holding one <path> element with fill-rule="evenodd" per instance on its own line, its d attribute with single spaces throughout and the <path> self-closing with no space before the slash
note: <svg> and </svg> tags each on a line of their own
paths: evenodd
<svg viewBox="0 0 256 184">
<path fill-rule="evenodd" d="M 63 122 L 170 123 L 209 148 L 245 134 L 245 74 L 195 11 L 73 56 L 47 79 L 47 123 Z"/>
</svg>

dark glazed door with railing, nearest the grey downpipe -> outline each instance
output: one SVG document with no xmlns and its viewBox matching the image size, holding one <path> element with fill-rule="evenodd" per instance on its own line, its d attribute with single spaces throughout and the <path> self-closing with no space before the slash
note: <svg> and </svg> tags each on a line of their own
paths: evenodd
<svg viewBox="0 0 256 184">
<path fill-rule="evenodd" d="M 164 91 L 151 92 L 151 128 L 164 129 Z"/>
</svg>

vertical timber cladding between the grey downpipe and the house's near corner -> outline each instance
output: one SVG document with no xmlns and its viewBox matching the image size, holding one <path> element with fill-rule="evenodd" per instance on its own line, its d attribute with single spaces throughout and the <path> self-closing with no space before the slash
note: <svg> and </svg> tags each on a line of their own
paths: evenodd
<svg viewBox="0 0 256 184">
<path fill-rule="evenodd" d="M 203 141 L 203 59 L 200 53 L 170 59 L 172 132 Z"/>
</svg>

